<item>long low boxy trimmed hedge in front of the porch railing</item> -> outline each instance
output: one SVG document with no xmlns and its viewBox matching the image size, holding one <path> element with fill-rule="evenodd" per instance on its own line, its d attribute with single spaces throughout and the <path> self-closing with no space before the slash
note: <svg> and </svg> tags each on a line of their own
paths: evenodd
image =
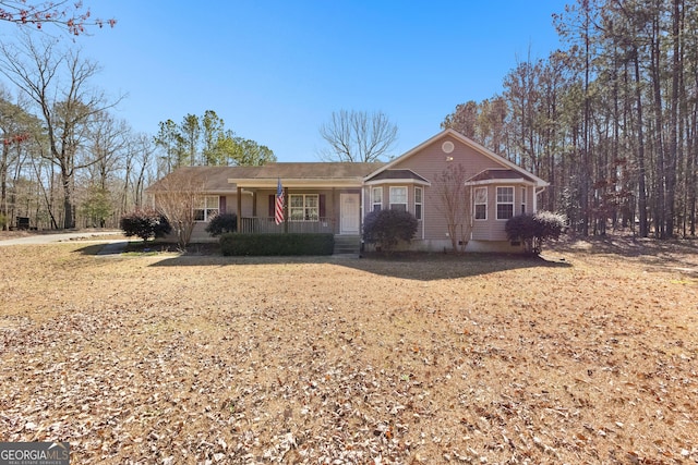
<svg viewBox="0 0 698 465">
<path fill-rule="evenodd" d="M 225 256 L 332 255 L 335 248 L 333 234 L 227 233 L 219 242 Z"/>
</svg>

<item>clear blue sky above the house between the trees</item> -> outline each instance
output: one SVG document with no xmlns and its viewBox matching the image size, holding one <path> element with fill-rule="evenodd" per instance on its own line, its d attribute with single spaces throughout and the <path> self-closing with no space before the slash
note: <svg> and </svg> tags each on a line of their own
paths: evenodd
<svg viewBox="0 0 698 465">
<path fill-rule="evenodd" d="M 341 109 L 386 113 L 394 155 L 436 134 L 456 105 L 501 93 L 517 60 L 559 47 L 551 15 L 566 2 L 88 3 L 118 23 L 76 45 L 103 69 L 94 84 L 127 95 L 115 114 L 135 131 L 210 109 L 279 161 L 315 161 Z"/>
</svg>

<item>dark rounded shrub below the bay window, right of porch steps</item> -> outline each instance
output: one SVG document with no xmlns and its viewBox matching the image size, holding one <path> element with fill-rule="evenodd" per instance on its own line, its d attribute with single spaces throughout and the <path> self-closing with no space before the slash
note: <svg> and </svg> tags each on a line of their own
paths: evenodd
<svg viewBox="0 0 698 465">
<path fill-rule="evenodd" d="M 417 218 L 409 211 L 372 211 L 363 222 L 363 241 L 389 252 L 400 241 L 410 242 L 418 225 Z"/>
</svg>

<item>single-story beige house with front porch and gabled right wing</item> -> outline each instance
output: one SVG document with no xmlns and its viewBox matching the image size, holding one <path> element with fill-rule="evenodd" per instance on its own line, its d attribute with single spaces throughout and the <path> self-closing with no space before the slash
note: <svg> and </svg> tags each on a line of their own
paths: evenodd
<svg viewBox="0 0 698 465">
<path fill-rule="evenodd" d="M 204 229 L 215 215 L 234 212 L 240 232 L 328 232 L 358 248 L 365 215 L 393 208 L 417 217 L 419 228 L 410 248 L 421 250 L 452 247 L 444 200 L 449 192 L 462 196 L 456 205 L 462 204 L 466 215 L 458 220 L 457 230 L 466 250 L 519 250 L 520 244 L 507 241 L 506 220 L 537 211 L 538 196 L 549 185 L 453 130 L 387 163 L 278 162 L 188 167 L 174 173 L 202 180 L 193 241 L 208 237 Z M 146 189 L 154 206 L 168 176 Z M 445 185 L 454 180 L 465 187 L 454 191 Z M 279 183 L 285 220 L 277 224 L 274 209 Z"/>
</svg>

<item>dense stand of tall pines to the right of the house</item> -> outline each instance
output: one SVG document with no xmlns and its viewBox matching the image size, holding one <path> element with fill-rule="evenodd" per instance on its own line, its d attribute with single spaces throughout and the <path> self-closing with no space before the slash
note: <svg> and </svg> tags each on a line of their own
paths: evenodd
<svg viewBox="0 0 698 465">
<path fill-rule="evenodd" d="M 565 47 L 442 123 L 547 180 L 541 208 L 579 234 L 696 235 L 698 4 L 578 0 Z"/>
</svg>

